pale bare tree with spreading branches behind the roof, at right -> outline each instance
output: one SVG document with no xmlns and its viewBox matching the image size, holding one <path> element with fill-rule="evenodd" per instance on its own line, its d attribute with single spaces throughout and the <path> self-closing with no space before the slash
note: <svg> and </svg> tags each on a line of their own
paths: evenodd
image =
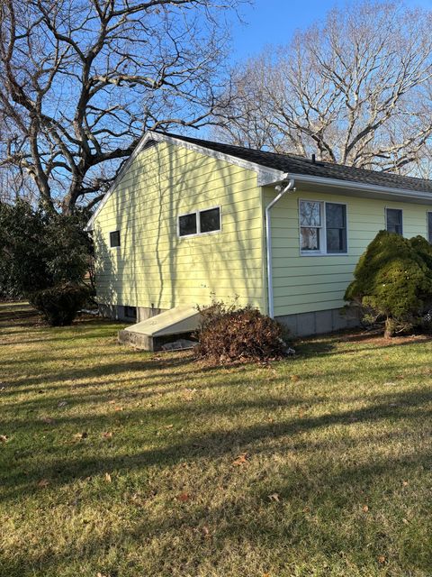
<svg viewBox="0 0 432 577">
<path fill-rule="evenodd" d="M 230 142 L 407 171 L 432 133 L 431 13 L 362 2 L 329 12 L 232 74 Z"/>
</svg>

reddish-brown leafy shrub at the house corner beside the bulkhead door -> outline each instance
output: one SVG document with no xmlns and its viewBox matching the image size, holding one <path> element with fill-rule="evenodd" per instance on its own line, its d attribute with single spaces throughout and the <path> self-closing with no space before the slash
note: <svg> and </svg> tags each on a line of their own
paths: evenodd
<svg viewBox="0 0 432 577">
<path fill-rule="evenodd" d="M 197 355 L 211 362 L 267 361 L 281 358 L 287 345 L 283 328 L 253 307 L 213 302 L 201 307 Z"/>
</svg>

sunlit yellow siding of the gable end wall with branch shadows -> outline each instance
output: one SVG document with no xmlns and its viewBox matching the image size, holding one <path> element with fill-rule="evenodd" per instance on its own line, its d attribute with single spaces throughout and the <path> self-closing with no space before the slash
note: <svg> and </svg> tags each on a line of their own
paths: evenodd
<svg viewBox="0 0 432 577">
<path fill-rule="evenodd" d="M 94 221 L 99 302 L 171 308 L 214 293 L 265 307 L 261 205 L 253 171 L 166 142 L 141 151 Z M 220 233 L 177 236 L 178 215 L 214 206 Z"/>
</svg>

